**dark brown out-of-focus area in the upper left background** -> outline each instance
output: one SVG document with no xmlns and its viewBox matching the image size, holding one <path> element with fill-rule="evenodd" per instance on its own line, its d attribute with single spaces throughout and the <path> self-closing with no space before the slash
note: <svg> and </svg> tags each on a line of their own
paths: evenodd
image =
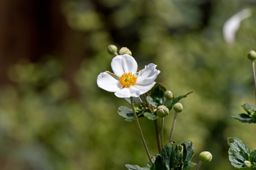
<svg viewBox="0 0 256 170">
<path fill-rule="evenodd" d="M 72 74 L 84 55 L 72 50 L 74 31 L 61 13 L 61 0 L 1 0 L 0 1 L 0 85 L 12 83 L 8 68 L 22 59 L 43 60 L 44 55 L 62 56 L 64 78 L 69 82 L 70 95 L 78 92 Z M 70 41 L 64 41 L 68 39 Z M 76 51 L 76 52 L 74 52 Z"/>
</svg>

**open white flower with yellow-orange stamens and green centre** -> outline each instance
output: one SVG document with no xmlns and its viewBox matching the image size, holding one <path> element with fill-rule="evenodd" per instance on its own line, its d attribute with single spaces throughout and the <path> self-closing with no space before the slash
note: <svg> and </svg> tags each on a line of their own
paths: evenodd
<svg viewBox="0 0 256 170">
<path fill-rule="evenodd" d="M 156 82 L 160 73 L 155 64 L 148 64 L 137 72 L 135 59 L 128 55 L 118 55 L 112 59 L 111 68 L 114 72 L 102 72 L 98 75 L 97 84 L 109 92 L 115 92 L 118 98 L 138 97 L 148 92 Z"/>
</svg>

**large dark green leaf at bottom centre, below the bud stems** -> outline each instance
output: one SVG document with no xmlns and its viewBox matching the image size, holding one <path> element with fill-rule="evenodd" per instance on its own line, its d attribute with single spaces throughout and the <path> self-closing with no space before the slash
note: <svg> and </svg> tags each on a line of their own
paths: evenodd
<svg viewBox="0 0 256 170">
<path fill-rule="evenodd" d="M 182 152 L 175 143 L 166 144 L 155 161 L 156 170 L 181 170 L 182 165 Z"/>
</svg>

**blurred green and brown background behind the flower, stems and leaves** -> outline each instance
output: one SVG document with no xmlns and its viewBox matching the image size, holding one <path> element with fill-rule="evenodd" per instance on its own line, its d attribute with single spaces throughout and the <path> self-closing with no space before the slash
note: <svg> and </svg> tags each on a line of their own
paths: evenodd
<svg viewBox="0 0 256 170">
<path fill-rule="evenodd" d="M 256 149 L 256 125 L 230 119 L 255 106 L 247 53 L 256 50 L 255 0 L 2 0 L 0 1 L 0 169 L 125 170 L 148 158 L 135 122 L 117 114 L 126 102 L 98 88 L 112 71 L 107 46 L 128 47 L 138 70 L 182 100 L 173 140 L 192 141 L 201 170 L 234 167 L 227 137 Z M 236 41 L 222 27 L 244 8 Z M 173 112 L 165 119 L 166 142 Z M 140 119 L 150 154 L 158 152 L 152 121 Z M 158 121 L 158 125 L 160 121 Z M 194 169 L 194 168 L 192 168 Z"/>
</svg>

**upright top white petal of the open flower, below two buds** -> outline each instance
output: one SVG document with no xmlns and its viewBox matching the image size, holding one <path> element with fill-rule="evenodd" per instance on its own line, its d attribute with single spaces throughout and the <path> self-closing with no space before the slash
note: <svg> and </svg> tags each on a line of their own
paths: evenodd
<svg viewBox="0 0 256 170">
<path fill-rule="evenodd" d="M 128 73 L 128 72 L 135 74 L 138 69 L 138 65 L 132 56 L 128 54 L 124 54 L 124 55 L 118 55 L 112 59 L 111 68 L 113 72 L 118 77 L 120 77 L 122 76 L 122 74 Z"/>
</svg>

